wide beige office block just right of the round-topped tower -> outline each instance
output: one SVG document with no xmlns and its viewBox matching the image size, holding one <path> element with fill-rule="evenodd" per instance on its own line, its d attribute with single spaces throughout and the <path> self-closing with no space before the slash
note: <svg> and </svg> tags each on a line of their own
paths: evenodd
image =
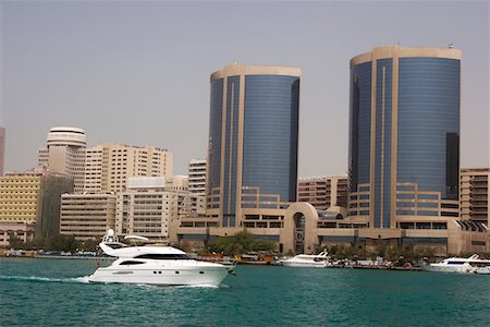
<svg viewBox="0 0 490 327">
<path fill-rule="evenodd" d="M 152 146 L 102 144 L 86 149 L 86 193 L 124 192 L 130 177 L 173 175 L 173 154 Z"/>
</svg>

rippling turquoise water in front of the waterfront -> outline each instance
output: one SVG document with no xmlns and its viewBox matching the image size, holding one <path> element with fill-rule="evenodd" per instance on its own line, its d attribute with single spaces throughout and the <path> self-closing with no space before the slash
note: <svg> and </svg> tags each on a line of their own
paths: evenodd
<svg viewBox="0 0 490 327">
<path fill-rule="evenodd" d="M 490 276 L 238 266 L 219 288 L 159 288 L 95 269 L 0 259 L 0 326 L 490 326 Z"/>
</svg>

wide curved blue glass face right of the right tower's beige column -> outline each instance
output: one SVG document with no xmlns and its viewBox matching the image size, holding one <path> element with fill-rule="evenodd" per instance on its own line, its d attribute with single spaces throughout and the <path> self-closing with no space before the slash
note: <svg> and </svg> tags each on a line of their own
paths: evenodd
<svg viewBox="0 0 490 327">
<path fill-rule="evenodd" d="M 460 60 L 401 58 L 399 70 L 397 180 L 457 199 Z"/>
</svg>

